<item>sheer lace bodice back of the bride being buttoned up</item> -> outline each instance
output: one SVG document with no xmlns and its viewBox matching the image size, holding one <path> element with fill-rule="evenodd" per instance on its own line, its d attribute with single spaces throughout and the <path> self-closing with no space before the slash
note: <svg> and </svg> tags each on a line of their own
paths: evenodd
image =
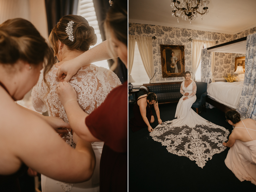
<svg viewBox="0 0 256 192">
<path fill-rule="evenodd" d="M 48 111 L 49 116 L 60 117 L 68 123 L 67 114 L 56 93 L 56 85 L 59 84 L 59 79 L 56 76 L 57 69 L 58 66 L 53 65 L 45 77 L 50 85 L 49 90 L 44 83 L 43 71 L 41 71 L 39 80 L 32 91 L 32 104 L 36 111 Z M 79 106 L 87 114 L 99 107 L 113 88 L 121 85 L 114 72 L 93 64 L 80 68 L 69 83 L 76 90 Z"/>
</svg>

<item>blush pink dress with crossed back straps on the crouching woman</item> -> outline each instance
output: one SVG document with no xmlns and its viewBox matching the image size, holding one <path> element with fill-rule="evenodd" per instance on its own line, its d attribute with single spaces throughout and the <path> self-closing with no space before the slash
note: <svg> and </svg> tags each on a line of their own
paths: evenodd
<svg viewBox="0 0 256 192">
<path fill-rule="evenodd" d="M 244 122 L 242 121 L 244 124 Z M 244 127 L 235 127 L 234 129 L 246 129 L 256 131 L 254 129 Z M 248 131 L 249 130 L 249 131 Z M 252 136 L 250 135 L 251 139 Z M 228 150 L 228 155 L 225 159 L 225 164 L 240 181 L 251 181 L 256 185 L 256 140 L 243 142 L 236 140 L 234 145 Z"/>
</svg>

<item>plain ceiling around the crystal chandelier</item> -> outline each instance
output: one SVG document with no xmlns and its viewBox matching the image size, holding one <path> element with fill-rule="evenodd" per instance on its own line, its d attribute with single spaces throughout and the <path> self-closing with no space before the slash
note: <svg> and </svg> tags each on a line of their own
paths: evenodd
<svg viewBox="0 0 256 192">
<path fill-rule="evenodd" d="M 182 0 L 181 0 L 182 1 Z M 256 0 L 209 0 L 209 13 L 197 14 L 190 22 L 172 17 L 172 0 L 129 0 L 128 19 L 132 23 L 188 28 L 236 34 L 256 27 Z M 200 8 L 202 12 L 202 8 Z"/>
</svg>

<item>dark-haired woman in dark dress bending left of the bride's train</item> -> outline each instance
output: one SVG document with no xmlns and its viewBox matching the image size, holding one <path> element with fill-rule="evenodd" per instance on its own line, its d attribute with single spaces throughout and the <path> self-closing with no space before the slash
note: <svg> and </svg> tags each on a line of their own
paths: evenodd
<svg viewBox="0 0 256 192">
<path fill-rule="evenodd" d="M 143 127 L 148 127 L 149 132 L 154 131 L 154 129 L 150 126 L 150 123 L 154 123 L 155 121 L 151 110 L 153 106 L 156 111 L 158 123 L 162 123 L 162 120 L 160 119 L 160 112 L 158 108 L 156 93 L 149 92 L 147 95 L 140 96 L 134 104 L 134 117 L 132 117 L 129 122 L 129 126 L 132 128 L 133 132 L 142 129 Z"/>
</svg>

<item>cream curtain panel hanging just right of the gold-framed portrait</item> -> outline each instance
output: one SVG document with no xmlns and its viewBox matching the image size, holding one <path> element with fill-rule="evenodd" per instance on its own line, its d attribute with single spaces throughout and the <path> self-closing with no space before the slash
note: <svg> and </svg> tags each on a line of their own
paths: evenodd
<svg viewBox="0 0 256 192">
<path fill-rule="evenodd" d="M 201 60 L 201 51 L 203 49 L 203 40 L 192 40 L 191 59 L 192 59 L 192 79 L 196 80 L 194 74 L 196 74 L 197 68 Z"/>
</svg>

